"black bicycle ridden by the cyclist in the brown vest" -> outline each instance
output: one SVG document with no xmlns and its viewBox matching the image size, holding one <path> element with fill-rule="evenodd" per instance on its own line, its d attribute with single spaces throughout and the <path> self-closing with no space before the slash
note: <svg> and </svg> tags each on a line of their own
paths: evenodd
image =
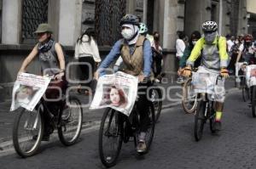
<svg viewBox="0 0 256 169">
<path fill-rule="evenodd" d="M 154 138 L 155 124 L 154 106 L 152 102 L 149 103 L 148 116 L 150 123 L 148 124 L 145 140 L 147 145 L 146 153 Z M 116 164 L 122 144 L 128 143 L 130 138 L 133 138 L 134 145 L 137 147 L 140 117 L 136 104 L 129 117 L 111 108 L 105 110 L 99 131 L 99 154 L 104 166 L 111 167 Z"/>
</svg>

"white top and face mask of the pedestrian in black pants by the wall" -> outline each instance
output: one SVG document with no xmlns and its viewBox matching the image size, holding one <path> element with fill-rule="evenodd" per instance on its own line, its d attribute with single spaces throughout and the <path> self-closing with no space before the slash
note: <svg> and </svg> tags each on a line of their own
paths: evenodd
<svg viewBox="0 0 256 169">
<path fill-rule="evenodd" d="M 90 42 L 88 42 L 88 40 L 89 37 L 87 35 L 84 35 L 84 37 L 82 37 L 82 42 L 76 43 L 74 56 L 75 59 L 79 59 L 80 57 L 92 56 L 96 62 L 101 62 L 102 59 L 100 57 L 99 49 L 95 40 L 93 39 L 93 37 L 91 37 Z"/>
</svg>

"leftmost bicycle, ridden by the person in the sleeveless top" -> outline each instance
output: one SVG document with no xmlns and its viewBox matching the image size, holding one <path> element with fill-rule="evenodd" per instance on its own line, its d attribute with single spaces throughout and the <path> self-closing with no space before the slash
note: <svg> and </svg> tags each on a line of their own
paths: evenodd
<svg viewBox="0 0 256 169">
<path fill-rule="evenodd" d="M 32 111 L 20 108 L 13 127 L 13 144 L 18 155 L 25 158 L 38 152 L 44 135 L 44 113 L 50 119 L 50 133 L 57 129 L 62 144 L 69 146 L 77 142 L 83 120 L 83 110 L 79 99 L 75 96 L 68 96 L 66 100 L 65 95 L 62 95 L 61 101 L 57 104 L 60 106 L 57 113 L 49 111 L 44 97 Z"/>
</svg>

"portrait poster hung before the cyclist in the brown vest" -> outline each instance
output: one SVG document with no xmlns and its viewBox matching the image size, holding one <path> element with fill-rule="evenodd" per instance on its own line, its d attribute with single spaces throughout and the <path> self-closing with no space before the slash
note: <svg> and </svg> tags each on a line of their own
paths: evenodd
<svg viewBox="0 0 256 169">
<path fill-rule="evenodd" d="M 137 97 L 137 83 L 136 76 L 120 71 L 101 76 L 90 109 L 110 107 L 129 116 Z"/>
</svg>

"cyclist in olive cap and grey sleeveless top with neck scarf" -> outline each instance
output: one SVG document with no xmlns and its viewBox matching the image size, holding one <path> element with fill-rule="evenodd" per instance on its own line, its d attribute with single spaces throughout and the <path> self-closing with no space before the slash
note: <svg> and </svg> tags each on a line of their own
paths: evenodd
<svg viewBox="0 0 256 169">
<path fill-rule="evenodd" d="M 31 64 L 32 60 L 38 56 L 43 76 L 55 76 L 55 82 L 49 83 L 49 88 L 45 92 L 47 99 L 58 99 L 61 96 L 59 89 L 65 93 L 67 81 L 65 78 L 65 58 L 60 43 L 55 42 L 52 38 L 52 28 L 49 24 L 38 25 L 37 31 L 34 32 L 38 37 L 38 43 L 32 49 L 32 52 L 23 61 L 19 73 L 26 72 L 26 67 Z M 56 89 L 57 87 L 57 89 Z M 59 102 L 57 102 L 59 103 Z M 51 113 L 56 114 L 59 104 L 47 102 Z M 44 141 L 49 141 L 50 127 L 49 115 L 44 114 Z"/>
</svg>

